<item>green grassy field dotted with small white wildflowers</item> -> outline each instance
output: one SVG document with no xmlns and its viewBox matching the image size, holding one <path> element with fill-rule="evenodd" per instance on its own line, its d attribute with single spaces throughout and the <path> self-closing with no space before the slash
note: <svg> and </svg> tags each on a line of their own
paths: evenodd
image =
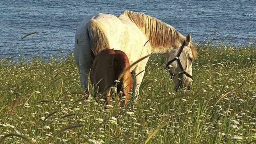
<svg viewBox="0 0 256 144">
<path fill-rule="evenodd" d="M 256 142 L 255 47 L 196 47 L 190 92 L 175 92 L 164 57 L 154 56 L 138 101 L 109 109 L 83 100 L 72 54 L 47 62 L 0 59 L 0 143 Z"/>
</svg>

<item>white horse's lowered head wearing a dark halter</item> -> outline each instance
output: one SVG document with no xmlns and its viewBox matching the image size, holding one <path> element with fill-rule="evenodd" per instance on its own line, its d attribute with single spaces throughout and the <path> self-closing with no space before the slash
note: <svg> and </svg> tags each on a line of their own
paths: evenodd
<svg viewBox="0 0 256 144">
<path fill-rule="evenodd" d="M 186 87 L 190 90 L 192 85 L 192 62 L 196 58 L 196 48 L 188 34 L 182 46 L 168 52 L 167 68 L 170 69 L 171 78 L 174 80 L 175 90 Z"/>
</svg>

